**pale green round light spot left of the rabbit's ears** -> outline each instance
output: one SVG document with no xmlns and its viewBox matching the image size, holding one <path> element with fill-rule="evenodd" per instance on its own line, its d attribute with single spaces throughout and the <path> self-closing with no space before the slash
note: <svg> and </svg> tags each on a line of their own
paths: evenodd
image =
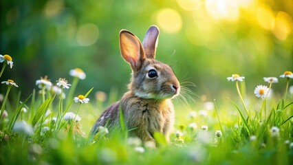
<svg viewBox="0 0 293 165">
<path fill-rule="evenodd" d="M 98 26 L 92 23 L 82 25 L 76 33 L 76 41 L 80 46 L 93 45 L 99 36 Z"/>
</svg>

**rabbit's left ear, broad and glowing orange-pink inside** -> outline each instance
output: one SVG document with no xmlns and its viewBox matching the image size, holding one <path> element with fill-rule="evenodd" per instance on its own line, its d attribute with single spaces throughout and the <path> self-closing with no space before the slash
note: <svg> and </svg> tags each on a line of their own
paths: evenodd
<svg viewBox="0 0 293 165">
<path fill-rule="evenodd" d="M 140 69 L 145 55 L 142 43 L 140 43 L 138 37 L 127 30 L 121 30 L 120 51 L 122 57 L 131 65 L 132 69 Z"/>
</svg>

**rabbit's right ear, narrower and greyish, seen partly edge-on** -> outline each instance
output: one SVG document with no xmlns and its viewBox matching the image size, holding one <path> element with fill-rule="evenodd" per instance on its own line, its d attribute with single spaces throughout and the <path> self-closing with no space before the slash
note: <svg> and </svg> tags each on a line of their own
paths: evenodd
<svg viewBox="0 0 293 165">
<path fill-rule="evenodd" d="M 155 49 L 158 45 L 159 33 L 159 29 L 155 25 L 152 25 L 146 32 L 146 36 L 144 36 L 144 41 L 142 41 L 146 58 L 155 58 Z"/>
</svg>

